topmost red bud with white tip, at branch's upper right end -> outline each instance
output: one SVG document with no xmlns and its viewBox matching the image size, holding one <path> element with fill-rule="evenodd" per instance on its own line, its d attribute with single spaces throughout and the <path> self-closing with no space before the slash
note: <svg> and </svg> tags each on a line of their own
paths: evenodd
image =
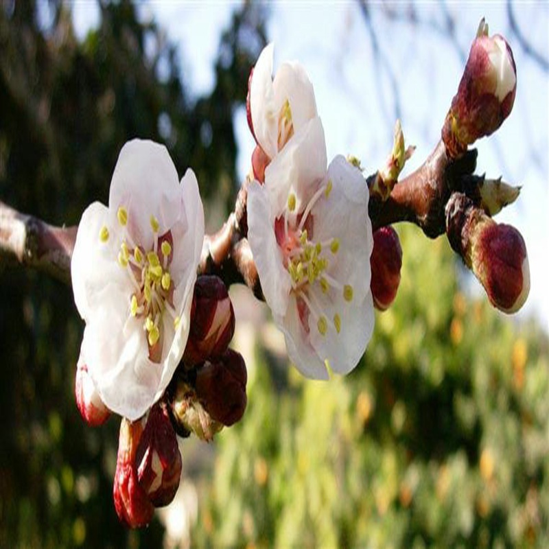
<svg viewBox="0 0 549 549">
<path fill-rule="evenodd" d="M 511 47 L 499 34 L 489 37 L 488 25 L 482 19 L 443 126 L 448 155 L 461 156 L 467 145 L 495 132 L 511 113 L 516 91 L 517 69 Z"/>
</svg>

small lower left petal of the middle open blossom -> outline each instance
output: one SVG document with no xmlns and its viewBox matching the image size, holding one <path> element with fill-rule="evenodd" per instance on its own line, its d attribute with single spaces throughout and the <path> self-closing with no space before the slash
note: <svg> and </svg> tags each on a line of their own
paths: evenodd
<svg viewBox="0 0 549 549">
<path fill-rule="evenodd" d="M 286 349 L 290 360 L 305 377 L 311 379 L 328 379 L 324 360 L 311 346 L 309 334 L 299 320 L 297 303 L 294 294 L 290 296 L 288 311 L 281 318 L 275 315 L 274 321 L 284 334 Z M 314 327 L 312 327 L 314 329 Z"/>
</svg>

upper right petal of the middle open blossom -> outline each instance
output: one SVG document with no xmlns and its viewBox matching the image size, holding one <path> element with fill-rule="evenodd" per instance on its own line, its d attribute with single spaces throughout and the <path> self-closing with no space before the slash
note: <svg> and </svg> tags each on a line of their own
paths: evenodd
<svg viewBox="0 0 549 549">
<path fill-rule="evenodd" d="M 338 238 L 338 253 L 327 255 L 327 274 L 342 285 L 352 285 L 355 299 L 360 302 L 370 291 L 371 281 L 373 235 L 368 215 L 368 187 L 360 170 L 343 156 L 331 161 L 328 178 L 332 181 L 329 197 L 318 200 L 312 209 L 314 241 Z"/>
</svg>

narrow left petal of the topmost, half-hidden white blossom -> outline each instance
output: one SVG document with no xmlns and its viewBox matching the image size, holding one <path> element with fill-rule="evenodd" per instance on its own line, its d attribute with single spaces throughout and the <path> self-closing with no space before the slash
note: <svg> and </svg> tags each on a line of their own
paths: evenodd
<svg viewBox="0 0 549 549">
<path fill-rule="evenodd" d="M 278 152 L 278 112 L 275 112 L 272 88 L 274 45 L 264 47 L 253 69 L 250 84 L 250 111 L 257 143 L 270 158 Z"/>
</svg>

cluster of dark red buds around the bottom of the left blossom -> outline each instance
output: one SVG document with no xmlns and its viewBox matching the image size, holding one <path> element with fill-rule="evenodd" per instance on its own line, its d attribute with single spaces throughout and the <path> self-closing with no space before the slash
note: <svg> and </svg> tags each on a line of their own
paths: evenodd
<svg viewBox="0 0 549 549">
<path fill-rule="evenodd" d="M 235 314 L 224 283 L 199 277 L 191 304 L 187 347 L 165 396 L 143 417 L 120 425 L 113 499 L 120 521 L 130 528 L 150 523 L 156 507 L 170 504 L 179 486 L 182 459 L 177 435 L 210 441 L 246 408 L 246 365 L 228 349 Z M 89 425 L 110 417 L 82 355 L 76 383 L 78 409 Z"/>
</svg>

